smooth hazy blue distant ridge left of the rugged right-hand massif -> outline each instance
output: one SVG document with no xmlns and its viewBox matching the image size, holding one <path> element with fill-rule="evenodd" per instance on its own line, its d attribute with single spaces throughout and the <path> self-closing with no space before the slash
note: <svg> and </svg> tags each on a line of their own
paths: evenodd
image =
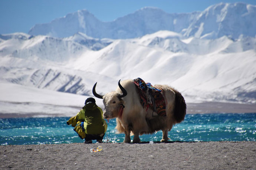
<svg viewBox="0 0 256 170">
<path fill-rule="evenodd" d="M 134 38 L 159 30 L 180 32 L 187 28 L 198 14 L 168 14 L 159 8 L 145 7 L 114 21 L 102 22 L 89 11 L 79 10 L 50 23 L 36 24 L 29 34 L 68 37 L 82 32 L 95 38 Z"/>
</svg>

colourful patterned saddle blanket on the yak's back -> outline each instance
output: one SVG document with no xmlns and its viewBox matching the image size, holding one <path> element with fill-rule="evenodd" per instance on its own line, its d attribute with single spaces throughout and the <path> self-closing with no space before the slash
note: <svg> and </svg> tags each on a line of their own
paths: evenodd
<svg viewBox="0 0 256 170">
<path fill-rule="evenodd" d="M 148 110 L 151 108 L 157 112 L 158 116 L 166 116 L 166 104 L 164 101 L 163 93 L 160 89 L 152 86 L 150 83 L 145 83 L 141 78 L 136 78 L 133 80 L 135 86 L 138 89 L 141 105 Z M 148 102 L 148 95 L 154 97 L 155 108 L 152 102 Z"/>
</svg>

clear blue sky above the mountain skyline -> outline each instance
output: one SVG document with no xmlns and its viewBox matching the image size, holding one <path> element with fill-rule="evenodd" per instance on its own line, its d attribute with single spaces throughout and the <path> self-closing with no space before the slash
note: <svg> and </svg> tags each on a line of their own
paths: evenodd
<svg viewBox="0 0 256 170">
<path fill-rule="evenodd" d="M 81 9 L 101 21 L 113 21 L 145 6 L 167 13 L 189 13 L 220 2 L 256 5 L 256 0 L 0 0 L 0 34 L 27 33 L 35 24 L 49 23 Z"/>
</svg>

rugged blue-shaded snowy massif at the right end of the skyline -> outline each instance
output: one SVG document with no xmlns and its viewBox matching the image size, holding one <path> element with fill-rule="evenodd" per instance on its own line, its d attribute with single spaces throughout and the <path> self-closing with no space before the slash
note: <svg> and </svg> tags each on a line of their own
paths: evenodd
<svg viewBox="0 0 256 170">
<path fill-rule="evenodd" d="M 206 8 L 184 33 L 185 36 L 219 38 L 241 34 L 255 37 L 256 6 L 245 3 L 220 3 Z"/>
</svg>

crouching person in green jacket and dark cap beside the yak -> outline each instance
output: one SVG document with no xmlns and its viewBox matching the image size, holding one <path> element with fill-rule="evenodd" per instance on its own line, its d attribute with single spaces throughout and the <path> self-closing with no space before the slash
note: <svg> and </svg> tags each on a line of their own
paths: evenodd
<svg viewBox="0 0 256 170">
<path fill-rule="evenodd" d="M 81 139 L 85 139 L 85 143 L 92 143 L 92 140 L 102 143 L 108 125 L 103 118 L 103 112 L 96 105 L 94 98 L 87 98 L 83 109 L 67 121 L 78 133 Z"/>
</svg>

